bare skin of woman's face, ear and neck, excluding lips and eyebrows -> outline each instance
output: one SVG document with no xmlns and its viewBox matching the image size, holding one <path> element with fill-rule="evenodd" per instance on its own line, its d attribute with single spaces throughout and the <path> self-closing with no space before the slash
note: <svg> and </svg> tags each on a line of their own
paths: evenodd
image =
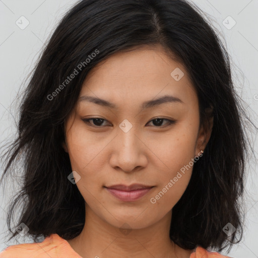
<svg viewBox="0 0 258 258">
<path fill-rule="evenodd" d="M 170 75 L 175 68 L 184 73 L 179 81 Z M 110 101 L 117 109 L 78 100 L 65 123 L 62 146 L 81 176 L 77 187 L 86 209 L 85 226 L 69 244 L 83 257 L 189 258 L 194 250 L 174 244 L 169 228 L 192 166 L 155 204 L 150 202 L 210 139 L 213 120 L 207 131 L 199 130 L 199 101 L 186 69 L 161 46 L 115 53 L 90 71 L 83 95 Z M 141 109 L 144 101 L 164 95 L 183 103 Z M 94 117 L 106 121 L 82 120 Z M 155 118 L 176 123 L 161 120 L 159 126 Z M 119 127 L 124 119 L 133 126 L 126 133 Z M 133 183 L 155 187 L 134 202 L 122 202 L 103 187 Z"/>
</svg>

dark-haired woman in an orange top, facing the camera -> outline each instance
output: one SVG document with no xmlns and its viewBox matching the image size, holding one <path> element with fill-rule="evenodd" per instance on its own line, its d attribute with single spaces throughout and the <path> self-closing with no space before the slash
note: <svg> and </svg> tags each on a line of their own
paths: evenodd
<svg viewBox="0 0 258 258">
<path fill-rule="evenodd" d="M 186 1 L 80 1 L 20 112 L 8 225 L 26 196 L 11 232 L 35 243 L 0 257 L 226 257 L 211 249 L 241 240 L 245 113 L 227 52 Z"/>
</svg>

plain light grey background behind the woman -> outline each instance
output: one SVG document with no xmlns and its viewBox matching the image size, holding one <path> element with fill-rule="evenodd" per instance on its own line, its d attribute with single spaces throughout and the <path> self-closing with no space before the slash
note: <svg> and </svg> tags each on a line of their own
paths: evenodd
<svg viewBox="0 0 258 258">
<path fill-rule="evenodd" d="M 119 0 L 118 0 L 119 1 Z M 1 95 L 0 95 L 0 141 L 12 139 L 16 133 L 15 119 L 18 120 L 13 103 L 22 82 L 33 68 L 39 56 L 44 42 L 57 25 L 64 13 L 76 3 L 75 0 L 0 0 L 0 71 L 1 71 Z M 220 36 L 225 38 L 229 54 L 234 63 L 234 80 L 236 89 L 242 99 L 252 111 L 251 115 L 257 125 L 258 110 L 258 33 L 257 11 L 258 0 L 198 0 L 193 1 L 201 10 L 209 15 L 209 19 L 218 29 Z M 16 21 L 24 16 L 29 25 L 20 29 Z M 236 25 L 232 27 L 234 21 Z M 227 19 L 226 19 L 227 18 Z M 226 19 L 226 20 L 225 20 Z M 224 22 L 223 22 L 224 21 Z M 232 27 L 230 29 L 226 26 Z M 239 73 L 238 69 L 242 71 Z M 243 85 L 243 87 L 242 87 Z M 11 106 L 12 104 L 12 106 Z M 254 138 L 253 138 L 254 139 Z M 255 139 L 254 139 L 255 140 Z M 253 140 L 255 154 L 257 155 L 257 141 Z M 2 164 L 0 164 L 2 166 Z M 244 225 L 244 237 L 235 245 L 229 256 L 235 258 L 258 257 L 258 176 L 254 162 L 249 164 L 246 191 L 246 220 Z M 1 169 L 1 172 L 2 173 Z M 14 179 L 15 180 L 15 179 Z M 19 242 L 6 242 L 5 232 L 6 211 L 10 198 L 17 192 L 19 185 L 9 182 L 8 188 L 1 188 L 0 198 L 0 251 L 7 245 L 32 242 L 17 239 Z"/>
</svg>

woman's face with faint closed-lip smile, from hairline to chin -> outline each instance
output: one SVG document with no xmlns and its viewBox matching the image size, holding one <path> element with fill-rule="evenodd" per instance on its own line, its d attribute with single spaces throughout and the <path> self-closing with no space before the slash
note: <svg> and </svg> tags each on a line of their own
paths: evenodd
<svg viewBox="0 0 258 258">
<path fill-rule="evenodd" d="M 145 47 L 116 53 L 91 70 L 67 120 L 63 148 L 86 210 L 110 225 L 137 229 L 171 215 L 204 139 L 186 70 L 162 48 Z M 132 184 L 149 188 L 129 192 Z"/>
</svg>

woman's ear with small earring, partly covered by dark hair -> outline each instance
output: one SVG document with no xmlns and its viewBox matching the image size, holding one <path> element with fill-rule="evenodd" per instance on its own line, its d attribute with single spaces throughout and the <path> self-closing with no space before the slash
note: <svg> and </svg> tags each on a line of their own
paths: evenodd
<svg viewBox="0 0 258 258">
<path fill-rule="evenodd" d="M 206 145 L 208 144 L 213 127 L 213 107 L 205 108 L 205 112 L 207 114 L 207 120 L 205 120 L 205 124 L 203 124 L 200 128 L 197 144 L 196 144 L 196 156 L 200 153 L 200 150 L 205 150 Z"/>
</svg>

